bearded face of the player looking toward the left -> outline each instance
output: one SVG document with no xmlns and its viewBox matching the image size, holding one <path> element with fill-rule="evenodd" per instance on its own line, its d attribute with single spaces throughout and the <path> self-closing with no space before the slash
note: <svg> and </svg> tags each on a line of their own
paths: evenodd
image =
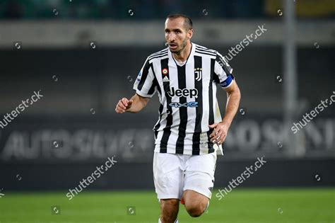
<svg viewBox="0 0 335 223">
<path fill-rule="evenodd" d="M 165 21 L 165 40 L 173 53 L 180 54 L 184 50 L 192 33 L 193 30 L 186 30 L 184 18 L 167 18 Z"/>
</svg>

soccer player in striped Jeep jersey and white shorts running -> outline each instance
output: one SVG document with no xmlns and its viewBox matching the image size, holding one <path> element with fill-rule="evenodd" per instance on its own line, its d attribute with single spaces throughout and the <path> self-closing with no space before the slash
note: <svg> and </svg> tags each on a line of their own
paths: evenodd
<svg viewBox="0 0 335 223">
<path fill-rule="evenodd" d="M 160 200 L 158 222 L 178 222 L 180 200 L 199 217 L 209 205 L 216 154 L 222 153 L 240 103 L 240 90 L 227 60 L 191 42 L 192 21 L 174 14 L 165 21 L 168 47 L 150 55 L 134 83 L 135 95 L 117 103 L 117 113 L 138 113 L 157 92 L 159 119 L 153 127 L 153 179 Z M 227 92 L 221 118 L 216 86 Z"/>
</svg>

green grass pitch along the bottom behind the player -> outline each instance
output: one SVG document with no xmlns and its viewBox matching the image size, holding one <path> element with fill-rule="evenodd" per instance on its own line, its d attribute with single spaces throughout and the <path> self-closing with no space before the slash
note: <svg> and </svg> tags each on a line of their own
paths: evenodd
<svg viewBox="0 0 335 223">
<path fill-rule="evenodd" d="M 0 222 L 158 222 L 159 206 L 153 192 L 90 192 L 72 200 L 64 193 L 11 193 L 0 198 Z M 225 198 L 213 198 L 199 218 L 187 215 L 180 205 L 180 223 L 333 223 L 334 188 L 241 189 Z M 52 210 L 52 206 L 57 206 Z M 129 208 L 131 208 L 129 210 Z M 58 213 L 58 215 L 57 215 Z"/>
</svg>

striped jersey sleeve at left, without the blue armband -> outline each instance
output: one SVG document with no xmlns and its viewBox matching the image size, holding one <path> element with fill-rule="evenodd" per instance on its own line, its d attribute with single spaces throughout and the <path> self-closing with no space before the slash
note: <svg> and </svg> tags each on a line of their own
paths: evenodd
<svg viewBox="0 0 335 223">
<path fill-rule="evenodd" d="M 139 75 L 137 76 L 133 89 L 139 96 L 144 98 L 151 98 L 157 91 L 157 86 L 155 84 L 155 76 L 153 75 L 152 64 L 146 59 Z"/>
</svg>

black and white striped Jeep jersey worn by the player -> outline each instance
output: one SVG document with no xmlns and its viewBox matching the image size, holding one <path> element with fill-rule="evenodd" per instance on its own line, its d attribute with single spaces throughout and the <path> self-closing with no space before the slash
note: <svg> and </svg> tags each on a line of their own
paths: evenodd
<svg viewBox="0 0 335 223">
<path fill-rule="evenodd" d="M 139 96 L 160 100 L 155 132 L 155 151 L 201 155 L 216 151 L 208 125 L 221 122 L 216 86 L 233 84 L 233 69 L 216 50 L 192 43 L 183 65 L 165 48 L 150 55 L 134 83 Z"/>
</svg>

